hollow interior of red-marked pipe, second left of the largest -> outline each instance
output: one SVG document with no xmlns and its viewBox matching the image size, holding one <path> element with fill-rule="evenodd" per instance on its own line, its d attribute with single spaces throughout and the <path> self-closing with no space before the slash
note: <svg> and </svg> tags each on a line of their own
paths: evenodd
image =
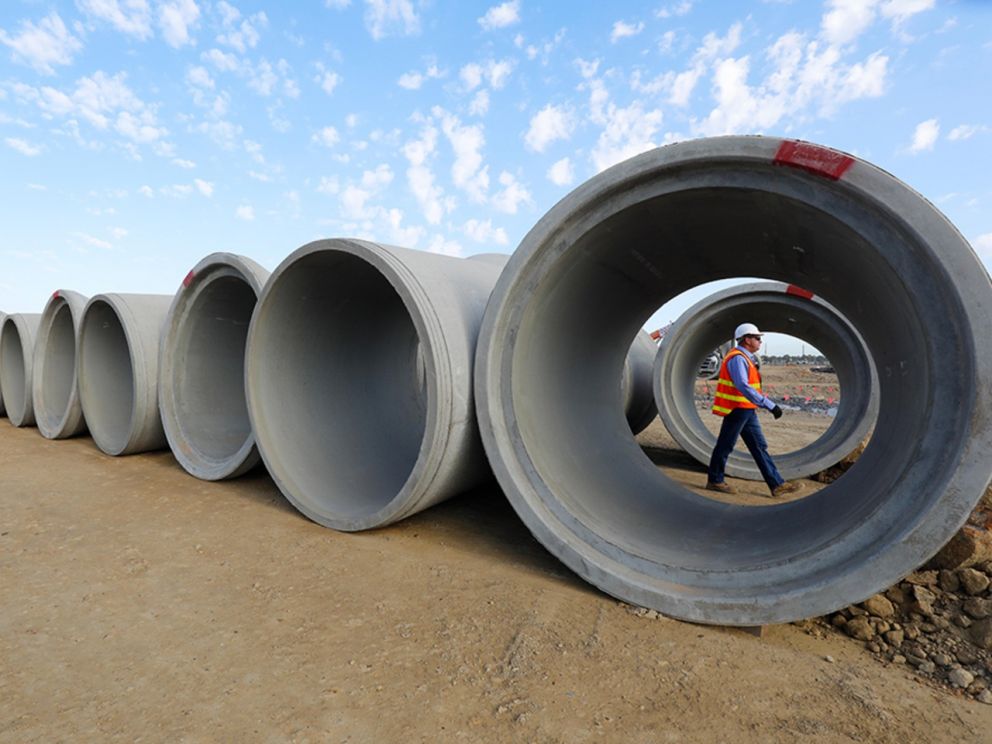
<svg viewBox="0 0 992 744">
<path fill-rule="evenodd" d="M 198 457 L 236 457 L 251 438 L 245 400 L 245 343 L 257 297 L 233 270 L 202 284 L 173 327 L 172 422 Z"/>
</svg>

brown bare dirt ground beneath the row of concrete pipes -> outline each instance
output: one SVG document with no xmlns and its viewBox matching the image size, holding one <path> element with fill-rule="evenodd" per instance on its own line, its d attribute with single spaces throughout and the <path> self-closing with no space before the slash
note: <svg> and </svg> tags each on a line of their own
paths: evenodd
<svg viewBox="0 0 992 744">
<path fill-rule="evenodd" d="M 766 432 L 814 425 L 786 416 Z M 672 477 L 705 480 L 660 424 L 641 441 Z M 88 437 L 50 442 L 0 420 L 0 514 L 0 742 L 905 744 L 992 731 L 992 706 L 841 635 L 635 614 L 548 554 L 495 486 L 343 534 L 297 513 L 264 472 L 206 483 L 167 452 L 110 458 Z"/>
</svg>

